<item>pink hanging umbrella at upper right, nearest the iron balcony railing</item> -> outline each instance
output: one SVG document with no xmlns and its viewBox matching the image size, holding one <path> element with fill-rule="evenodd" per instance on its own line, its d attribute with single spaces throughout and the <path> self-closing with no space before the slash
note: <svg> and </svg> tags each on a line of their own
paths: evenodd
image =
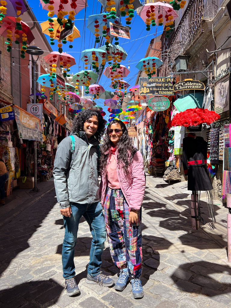
<svg viewBox="0 0 231 308">
<path fill-rule="evenodd" d="M 146 23 L 146 30 L 150 30 L 151 22 L 152 26 L 167 26 L 166 32 L 174 30 L 173 21 L 179 17 L 170 4 L 163 2 L 144 4 L 138 15 Z"/>
</svg>

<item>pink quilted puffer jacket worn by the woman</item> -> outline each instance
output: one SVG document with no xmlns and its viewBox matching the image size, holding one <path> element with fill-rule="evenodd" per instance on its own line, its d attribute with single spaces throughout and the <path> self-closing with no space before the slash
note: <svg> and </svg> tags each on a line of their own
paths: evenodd
<svg viewBox="0 0 231 308">
<path fill-rule="evenodd" d="M 111 149 L 108 150 L 109 157 L 111 156 Z M 105 152 L 107 154 L 108 152 Z M 117 150 L 115 152 L 117 159 Z M 130 209 L 139 210 L 143 199 L 145 190 L 145 176 L 144 176 L 144 160 L 139 151 L 137 151 L 132 159 L 132 164 L 129 166 L 128 174 L 124 173 L 122 168 L 117 166 L 117 176 L 120 183 L 120 188 L 128 203 Z M 101 183 L 99 190 L 99 197 L 101 196 L 102 207 L 106 198 L 107 189 L 107 172 L 104 170 L 101 175 Z"/>
</svg>

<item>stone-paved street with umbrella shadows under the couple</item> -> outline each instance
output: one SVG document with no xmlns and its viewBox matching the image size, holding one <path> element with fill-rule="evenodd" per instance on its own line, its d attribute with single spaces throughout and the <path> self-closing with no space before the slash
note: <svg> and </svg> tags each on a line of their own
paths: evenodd
<svg viewBox="0 0 231 308">
<path fill-rule="evenodd" d="M 217 229 L 191 229 L 187 183 L 147 174 L 143 203 L 144 298 L 135 300 L 131 284 L 88 285 L 89 227 L 81 220 L 75 246 L 76 281 L 81 294 L 68 297 L 62 277 L 63 219 L 52 190 L 1 228 L 0 306 L 7 308 L 225 308 L 231 304 L 231 266 L 227 260 L 226 213 L 215 205 Z M 207 205 L 201 202 L 203 217 Z M 102 271 L 117 280 L 105 242 Z"/>
</svg>

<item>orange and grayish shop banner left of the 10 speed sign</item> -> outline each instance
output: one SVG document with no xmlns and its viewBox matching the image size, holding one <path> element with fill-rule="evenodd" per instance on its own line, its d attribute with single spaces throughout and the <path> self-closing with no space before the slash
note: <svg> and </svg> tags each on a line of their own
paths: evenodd
<svg viewBox="0 0 231 308">
<path fill-rule="evenodd" d="M 15 120 L 18 127 L 19 138 L 42 141 L 40 120 L 25 110 L 14 106 Z"/>
</svg>

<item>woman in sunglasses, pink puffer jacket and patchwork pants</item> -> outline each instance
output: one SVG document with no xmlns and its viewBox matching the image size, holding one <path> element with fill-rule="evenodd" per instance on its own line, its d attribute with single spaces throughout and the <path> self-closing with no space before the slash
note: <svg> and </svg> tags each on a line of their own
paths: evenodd
<svg viewBox="0 0 231 308">
<path fill-rule="evenodd" d="M 134 298 L 142 298 L 143 157 L 132 145 L 125 124 L 119 120 L 109 123 L 100 151 L 100 193 L 107 237 L 112 260 L 120 269 L 115 290 L 124 290 L 131 279 Z"/>
</svg>

